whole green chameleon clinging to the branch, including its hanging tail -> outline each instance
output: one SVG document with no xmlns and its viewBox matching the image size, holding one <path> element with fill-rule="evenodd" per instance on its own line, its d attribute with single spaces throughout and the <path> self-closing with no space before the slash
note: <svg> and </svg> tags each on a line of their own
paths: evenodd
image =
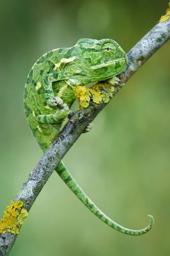
<svg viewBox="0 0 170 256">
<path fill-rule="evenodd" d="M 76 99 L 74 88 L 113 78 L 126 64 L 126 53 L 111 39 L 80 39 L 74 47 L 54 49 L 37 60 L 26 81 L 24 103 L 28 124 L 44 152 L 62 129 Z M 108 81 L 113 84 L 117 80 L 114 77 Z M 91 125 L 86 131 L 90 129 Z M 142 230 L 120 226 L 85 195 L 62 161 L 55 170 L 82 203 L 113 229 L 136 236 L 147 233 L 153 226 L 151 215 L 148 215 L 150 224 Z"/>
</svg>

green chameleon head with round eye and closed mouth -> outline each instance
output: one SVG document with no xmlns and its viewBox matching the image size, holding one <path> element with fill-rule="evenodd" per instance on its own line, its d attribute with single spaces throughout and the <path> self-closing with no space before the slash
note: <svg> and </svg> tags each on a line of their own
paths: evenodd
<svg viewBox="0 0 170 256">
<path fill-rule="evenodd" d="M 126 67 L 127 55 L 112 39 L 80 39 L 77 46 L 91 71 L 91 82 L 111 78 Z"/>
</svg>

